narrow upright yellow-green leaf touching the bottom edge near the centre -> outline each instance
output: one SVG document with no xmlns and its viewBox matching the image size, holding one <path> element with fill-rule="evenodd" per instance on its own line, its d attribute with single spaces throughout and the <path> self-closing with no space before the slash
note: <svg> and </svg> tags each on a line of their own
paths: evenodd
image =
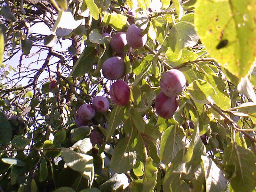
<svg viewBox="0 0 256 192">
<path fill-rule="evenodd" d="M 158 169 L 153 163 L 151 157 L 148 157 L 145 162 L 145 172 L 143 177 L 143 189 L 142 191 L 152 191 L 156 186 Z"/>
</svg>

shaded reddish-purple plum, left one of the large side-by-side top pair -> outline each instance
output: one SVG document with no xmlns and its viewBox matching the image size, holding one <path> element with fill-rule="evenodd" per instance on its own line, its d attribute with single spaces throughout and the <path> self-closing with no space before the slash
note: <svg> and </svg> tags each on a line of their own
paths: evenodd
<svg viewBox="0 0 256 192">
<path fill-rule="evenodd" d="M 122 54 L 124 52 L 125 45 L 127 45 L 127 40 L 124 32 L 117 32 L 115 35 L 113 35 L 110 41 L 112 51 Z"/>
</svg>

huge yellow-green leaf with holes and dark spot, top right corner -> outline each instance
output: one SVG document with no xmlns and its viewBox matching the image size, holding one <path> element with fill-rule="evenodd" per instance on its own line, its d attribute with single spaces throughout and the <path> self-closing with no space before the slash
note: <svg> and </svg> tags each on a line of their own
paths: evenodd
<svg viewBox="0 0 256 192">
<path fill-rule="evenodd" d="M 207 52 L 233 75 L 244 77 L 255 60 L 256 4 L 251 0 L 198 0 L 196 32 Z"/>
</svg>

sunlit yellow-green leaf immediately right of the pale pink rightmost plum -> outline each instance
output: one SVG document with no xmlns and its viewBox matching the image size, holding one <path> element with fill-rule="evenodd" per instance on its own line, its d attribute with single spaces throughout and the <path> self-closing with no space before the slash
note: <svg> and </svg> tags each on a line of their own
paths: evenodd
<svg viewBox="0 0 256 192">
<path fill-rule="evenodd" d="M 212 85 L 201 79 L 195 80 L 189 84 L 187 90 L 193 100 L 202 104 L 209 103 L 207 98 L 216 95 Z"/>
</svg>

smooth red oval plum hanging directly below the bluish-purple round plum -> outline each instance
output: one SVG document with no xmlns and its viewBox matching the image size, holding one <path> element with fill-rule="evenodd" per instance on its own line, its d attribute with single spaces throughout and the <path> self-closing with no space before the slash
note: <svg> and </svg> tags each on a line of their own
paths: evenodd
<svg viewBox="0 0 256 192">
<path fill-rule="evenodd" d="M 124 106 L 129 103 L 131 90 L 125 81 L 118 80 L 110 86 L 109 94 L 114 103 Z"/>
</svg>

